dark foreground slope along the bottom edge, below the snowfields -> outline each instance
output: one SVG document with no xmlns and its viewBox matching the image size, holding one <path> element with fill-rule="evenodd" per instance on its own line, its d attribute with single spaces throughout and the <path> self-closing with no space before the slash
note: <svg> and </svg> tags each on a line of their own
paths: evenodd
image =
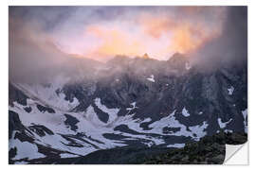
<svg viewBox="0 0 256 170">
<path fill-rule="evenodd" d="M 225 160 L 225 144 L 244 144 L 245 133 L 220 132 L 205 136 L 183 148 L 117 147 L 99 150 L 79 158 L 39 159 L 30 163 L 42 164 L 222 164 Z"/>
</svg>

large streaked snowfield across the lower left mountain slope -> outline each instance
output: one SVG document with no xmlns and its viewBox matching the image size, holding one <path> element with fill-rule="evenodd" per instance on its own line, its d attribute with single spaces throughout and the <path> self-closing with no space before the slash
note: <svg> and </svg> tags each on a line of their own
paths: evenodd
<svg viewBox="0 0 256 170">
<path fill-rule="evenodd" d="M 28 93 L 31 94 L 32 92 Z M 42 101 L 56 100 L 54 97 L 46 98 L 48 100 L 28 98 L 27 106 L 17 102 L 13 102 L 13 106 L 9 106 L 9 110 L 18 113 L 22 125 L 27 129 L 32 126 L 44 126 L 53 132 L 53 134 L 39 135 L 36 130 L 26 131 L 26 134 L 34 139 L 33 143 L 29 143 L 14 139 L 15 133 L 17 133 L 14 131 L 12 138 L 9 140 L 9 149 L 17 149 L 16 156 L 13 159 L 17 163 L 19 163 L 19 160 L 22 162 L 22 159 L 25 158 L 28 160 L 45 158 L 46 155 L 38 152 L 37 144 L 59 150 L 61 158 L 72 158 L 84 156 L 100 149 L 125 146 L 136 141 L 148 147 L 158 144 L 165 144 L 167 147 L 183 147 L 184 144 L 166 143 L 163 136 L 184 136 L 198 141 L 207 134 L 205 131 L 208 127 L 207 122 L 186 127 L 175 118 L 175 110 L 170 115 L 150 123 L 152 119 L 149 117 L 141 120 L 135 119 L 134 114 L 118 116 L 119 108 L 110 109 L 101 103 L 101 98 L 95 98 L 95 107 L 109 115 L 107 123 L 104 123 L 99 119 L 98 113 L 92 105 L 79 112 L 69 111 L 72 108 L 70 105 L 59 105 L 58 107 L 56 105 L 53 108 L 54 112 L 39 110 L 38 105 L 45 104 Z M 64 96 L 61 96 L 61 98 L 64 98 Z M 128 112 L 137 109 L 136 102 L 132 102 L 130 105 L 131 107 L 126 109 Z M 27 111 L 26 108 L 31 110 Z M 182 114 L 185 117 L 190 116 L 189 110 L 186 110 L 185 107 Z M 72 120 L 76 120 L 75 123 Z M 149 128 L 141 127 L 143 123 L 149 123 Z M 72 128 L 72 126 L 76 128 Z M 134 132 L 117 128 L 123 126 Z M 164 132 L 164 128 L 178 128 L 178 130 Z M 107 137 L 106 135 L 110 136 Z M 112 139 L 111 135 L 120 138 Z"/>
</svg>

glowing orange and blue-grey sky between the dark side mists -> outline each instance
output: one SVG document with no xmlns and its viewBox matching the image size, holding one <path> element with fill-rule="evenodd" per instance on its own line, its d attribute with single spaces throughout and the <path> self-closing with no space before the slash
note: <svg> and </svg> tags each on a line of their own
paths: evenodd
<svg viewBox="0 0 256 170">
<path fill-rule="evenodd" d="M 31 37 L 45 37 L 64 53 L 98 60 L 145 53 L 169 59 L 221 36 L 226 8 L 27 7 L 11 8 L 9 16 L 21 20 Z"/>
</svg>

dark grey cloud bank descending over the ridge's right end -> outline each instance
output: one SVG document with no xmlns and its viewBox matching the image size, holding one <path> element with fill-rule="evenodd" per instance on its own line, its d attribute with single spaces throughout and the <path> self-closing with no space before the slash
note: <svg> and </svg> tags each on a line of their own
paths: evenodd
<svg viewBox="0 0 256 170">
<path fill-rule="evenodd" d="M 229 7 L 221 36 L 191 54 L 193 62 L 208 69 L 247 64 L 247 7 Z"/>
</svg>

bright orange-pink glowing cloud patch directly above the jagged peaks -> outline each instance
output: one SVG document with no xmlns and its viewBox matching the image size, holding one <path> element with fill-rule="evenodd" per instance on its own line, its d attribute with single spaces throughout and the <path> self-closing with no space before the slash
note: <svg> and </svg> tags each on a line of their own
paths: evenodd
<svg viewBox="0 0 256 170">
<path fill-rule="evenodd" d="M 220 32 L 217 26 L 212 30 L 203 23 L 174 20 L 164 14 L 143 13 L 134 22 L 86 26 L 82 39 L 86 40 L 84 46 L 87 48 L 84 48 L 82 55 L 107 60 L 116 55 L 134 57 L 148 53 L 151 58 L 169 59 L 175 52 L 190 53 L 196 50 Z M 72 53 L 75 51 L 74 46 Z"/>
</svg>

